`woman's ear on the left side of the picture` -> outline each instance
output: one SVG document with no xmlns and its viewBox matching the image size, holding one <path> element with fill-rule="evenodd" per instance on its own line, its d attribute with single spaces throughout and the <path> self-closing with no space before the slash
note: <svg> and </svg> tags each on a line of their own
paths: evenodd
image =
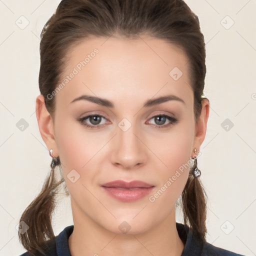
<svg viewBox="0 0 256 256">
<path fill-rule="evenodd" d="M 42 94 L 36 97 L 35 111 L 41 137 L 44 143 L 46 144 L 48 150 L 52 148 L 53 157 L 57 157 L 58 151 L 54 136 L 53 120 L 46 109 L 44 97 Z"/>
</svg>

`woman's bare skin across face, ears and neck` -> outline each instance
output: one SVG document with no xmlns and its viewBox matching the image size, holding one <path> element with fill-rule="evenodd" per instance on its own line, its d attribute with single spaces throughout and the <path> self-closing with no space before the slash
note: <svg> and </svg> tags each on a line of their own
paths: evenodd
<svg viewBox="0 0 256 256">
<path fill-rule="evenodd" d="M 188 59 L 182 49 L 149 36 L 106 39 L 90 37 L 72 47 L 63 78 L 94 48 L 99 52 L 53 97 L 54 115 L 47 112 L 42 95 L 36 98 L 40 134 L 53 156 L 59 155 L 70 193 L 74 222 L 68 239 L 70 252 L 72 256 L 180 255 L 184 244 L 176 229 L 175 203 L 189 169 L 180 172 L 154 202 L 148 197 L 194 157 L 194 147 L 199 151 L 209 101 L 203 99 L 195 123 Z M 169 75 L 175 66 L 183 73 L 178 80 Z M 108 99 L 114 107 L 87 100 L 70 103 L 82 94 Z M 143 107 L 147 99 L 167 94 L 185 103 L 169 100 Z M 177 122 L 155 127 L 170 123 L 152 118 L 160 113 L 174 116 Z M 90 129 L 77 120 L 88 114 L 104 116 L 98 121 L 100 128 Z M 126 131 L 118 126 L 123 118 L 131 124 Z M 84 122 L 96 123 L 89 118 Z M 66 176 L 72 169 L 80 175 L 74 183 Z M 116 179 L 138 179 L 155 187 L 137 201 L 121 202 L 100 187 Z M 127 233 L 118 228 L 123 221 L 131 227 Z"/>
</svg>

